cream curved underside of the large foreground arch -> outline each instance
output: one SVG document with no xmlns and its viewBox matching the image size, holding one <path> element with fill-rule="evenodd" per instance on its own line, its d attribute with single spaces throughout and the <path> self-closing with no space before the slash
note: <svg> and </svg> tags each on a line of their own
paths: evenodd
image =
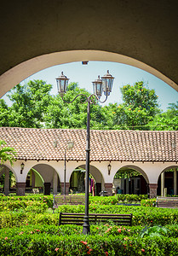
<svg viewBox="0 0 178 256">
<path fill-rule="evenodd" d="M 169 84 L 175 90 L 177 85 L 163 73 L 160 73 L 155 68 L 147 65 L 144 62 L 138 61 L 127 55 L 121 55 L 109 51 L 84 49 L 84 50 L 69 50 L 50 53 L 48 55 L 39 55 L 28 61 L 23 61 L 19 65 L 11 68 L 0 76 L 0 97 L 12 89 L 16 84 L 19 84 L 24 79 L 34 73 L 37 73 L 45 68 L 55 65 L 75 62 L 75 61 L 111 61 L 127 64 L 133 67 L 138 67 L 148 73 L 152 73 L 165 83 Z"/>
</svg>

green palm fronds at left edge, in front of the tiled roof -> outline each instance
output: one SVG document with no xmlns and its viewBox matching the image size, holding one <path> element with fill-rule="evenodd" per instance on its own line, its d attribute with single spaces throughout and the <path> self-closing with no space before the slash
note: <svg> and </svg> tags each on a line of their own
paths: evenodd
<svg viewBox="0 0 178 256">
<path fill-rule="evenodd" d="M 0 140 L 0 159 L 1 164 L 5 163 L 7 160 L 9 160 L 11 166 L 13 165 L 13 162 L 16 160 L 16 152 L 14 148 L 6 147 L 6 143 L 3 140 Z"/>
</svg>

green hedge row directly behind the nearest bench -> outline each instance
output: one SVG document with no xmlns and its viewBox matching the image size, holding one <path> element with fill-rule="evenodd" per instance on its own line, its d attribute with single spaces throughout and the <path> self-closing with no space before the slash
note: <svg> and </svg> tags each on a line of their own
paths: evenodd
<svg viewBox="0 0 178 256">
<path fill-rule="evenodd" d="M 59 212 L 84 212 L 84 206 L 60 206 Z M 90 206 L 89 212 L 133 213 L 133 225 L 178 224 L 176 209 L 152 207 Z M 57 224 L 59 214 L 36 212 L 0 212 L 0 228 L 20 224 Z"/>
</svg>

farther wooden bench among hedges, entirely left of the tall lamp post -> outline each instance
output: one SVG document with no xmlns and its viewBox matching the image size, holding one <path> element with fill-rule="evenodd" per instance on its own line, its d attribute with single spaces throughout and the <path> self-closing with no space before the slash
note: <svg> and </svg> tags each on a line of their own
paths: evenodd
<svg viewBox="0 0 178 256">
<path fill-rule="evenodd" d="M 84 205 L 85 195 L 54 195 L 53 213 L 61 205 Z"/>
</svg>

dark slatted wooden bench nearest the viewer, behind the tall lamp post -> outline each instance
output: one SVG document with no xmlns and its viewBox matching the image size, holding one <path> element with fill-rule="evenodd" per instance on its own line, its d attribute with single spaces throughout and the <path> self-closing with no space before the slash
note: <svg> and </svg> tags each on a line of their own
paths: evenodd
<svg viewBox="0 0 178 256">
<path fill-rule="evenodd" d="M 84 213 L 60 212 L 59 225 L 77 224 L 83 225 Z M 130 214 L 100 214 L 89 213 L 89 224 L 106 224 L 109 222 L 119 225 L 132 225 L 132 213 Z"/>
</svg>

